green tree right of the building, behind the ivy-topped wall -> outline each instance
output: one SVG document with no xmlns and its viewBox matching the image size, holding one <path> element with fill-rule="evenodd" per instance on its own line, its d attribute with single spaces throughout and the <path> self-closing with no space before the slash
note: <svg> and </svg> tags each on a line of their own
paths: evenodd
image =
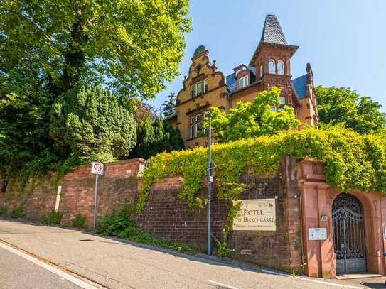
<svg viewBox="0 0 386 289">
<path fill-rule="evenodd" d="M 316 87 L 319 119 L 323 124 L 342 125 L 358 133 L 385 129 L 382 107 L 370 97 L 361 97 L 347 87 Z"/>
</svg>

